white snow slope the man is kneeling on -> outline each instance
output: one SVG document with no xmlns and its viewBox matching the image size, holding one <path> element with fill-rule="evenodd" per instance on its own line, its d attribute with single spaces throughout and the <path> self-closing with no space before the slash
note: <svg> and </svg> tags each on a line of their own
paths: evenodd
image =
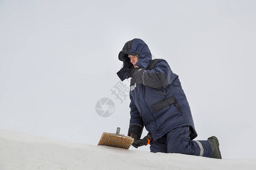
<svg viewBox="0 0 256 170">
<path fill-rule="evenodd" d="M 217 160 L 68 143 L 0 130 L 0 169 L 256 169 L 255 159 Z"/>
</svg>

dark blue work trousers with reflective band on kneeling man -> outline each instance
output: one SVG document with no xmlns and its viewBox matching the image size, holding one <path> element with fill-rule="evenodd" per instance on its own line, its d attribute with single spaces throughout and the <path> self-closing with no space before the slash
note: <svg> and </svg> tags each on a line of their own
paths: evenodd
<svg viewBox="0 0 256 170">
<path fill-rule="evenodd" d="M 151 152 L 177 153 L 212 157 L 208 141 L 191 141 L 189 126 L 172 129 L 162 138 L 150 142 Z"/>
</svg>

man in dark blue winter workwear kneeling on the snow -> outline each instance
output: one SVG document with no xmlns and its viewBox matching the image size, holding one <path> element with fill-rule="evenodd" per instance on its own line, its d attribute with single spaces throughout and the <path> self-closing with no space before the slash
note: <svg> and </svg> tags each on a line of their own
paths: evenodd
<svg viewBox="0 0 256 170">
<path fill-rule="evenodd" d="M 221 159 L 218 139 L 197 137 L 191 110 L 179 77 L 164 59 L 153 59 L 147 44 L 133 39 L 118 55 L 123 67 L 117 75 L 130 83 L 130 127 L 133 146 L 148 145 L 151 152 L 180 153 Z M 142 130 L 148 135 L 141 139 Z"/>
</svg>

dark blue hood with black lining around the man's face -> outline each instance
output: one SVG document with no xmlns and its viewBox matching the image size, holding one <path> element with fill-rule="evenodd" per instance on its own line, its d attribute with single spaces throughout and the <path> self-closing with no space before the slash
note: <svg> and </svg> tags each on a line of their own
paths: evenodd
<svg viewBox="0 0 256 170">
<path fill-rule="evenodd" d="M 136 66 L 142 69 L 146 69 L 152 60 L 150 49 L 147 44 L 141 39 L 133 39 L 127 41 L 123 46 L 123 49 L 118 54 L 118 59 L 123 62 L 123 67 L 118 71 L 117 75 L 121 80 L 129 78 L 130 70 L 134 68 L 133 64 L 130 62 L 128 55 L 139 56 L 139 60 Z M 129 63 L 128 63 L 129 62 Z"/>
</svg>

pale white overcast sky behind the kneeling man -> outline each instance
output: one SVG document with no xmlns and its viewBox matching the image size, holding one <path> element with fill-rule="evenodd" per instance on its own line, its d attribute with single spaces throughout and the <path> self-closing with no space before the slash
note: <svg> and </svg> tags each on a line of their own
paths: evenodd
<svg viewBox="0 0 256 170">
<path fill-rule="evenodd" d="M 0 128 L 91 145 L 104 131 L 126 134 L 129 97 L 121 103 L 110 89 L 119 82 L 119 51 L 137 37 L 179 75 L 196 139 L 216 135 L 224 159 L 256 158 L 255 7 L 1 0 Z M 115 103 L 106 118 L 95 110 L 104 97 Z"/>
</svg>

